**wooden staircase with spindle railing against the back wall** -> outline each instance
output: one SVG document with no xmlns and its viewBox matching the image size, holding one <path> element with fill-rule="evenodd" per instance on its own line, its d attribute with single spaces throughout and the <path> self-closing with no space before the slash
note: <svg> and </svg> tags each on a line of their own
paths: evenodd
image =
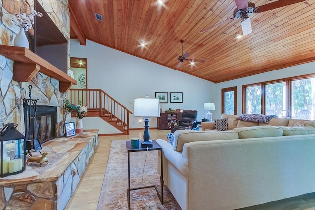
<svg viewBox="0 0 315 210">
<path fill-rule="evenodd" d="M 69 100 L 71 104 L 79 102 L 88 108 L 86 117 L 100 117 L 124 134 L 129 134 L 129 114 L 125 106 L 110 97 L 101 89 L 70 89 Z"/>
</svg>

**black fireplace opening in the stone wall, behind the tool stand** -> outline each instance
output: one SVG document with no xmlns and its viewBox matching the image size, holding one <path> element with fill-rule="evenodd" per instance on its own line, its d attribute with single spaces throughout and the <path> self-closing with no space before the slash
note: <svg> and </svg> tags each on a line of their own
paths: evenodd
<svg viewBox="0 0 315 210">
<path fill-rule="evenodd" d="M 34 114 L 35 112 L 36 114 Z M 35 122 L 34 115 L 36 115 Z M 33 105 L 31 105 L 30 124 L 29 122 L 25 122 L 29 124 L 28 128 L 30 134 L 26 145 L 27 150 L 33 149 L 33 140 L 35 138 L 38 139 L 41 144 L 54 139 L 56 137 L 56 122 L 57 107 L 37 105 L 36 110 L 33 110 Z"/>
</svg>

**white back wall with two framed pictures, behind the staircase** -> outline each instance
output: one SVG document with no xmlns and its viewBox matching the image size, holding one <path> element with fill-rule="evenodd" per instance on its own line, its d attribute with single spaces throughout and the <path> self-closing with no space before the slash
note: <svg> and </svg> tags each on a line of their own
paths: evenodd
<svg viewBox="0 0 315 210">
<path fill-rule="evenodd" d="M 204 102 L 213 102 L 216 97 L 212 82 L 89 40 L 82 46 L 77 39 L 71 39 L 70 56 L 87 58 L 88 88 L 103 89 L 131 112 L 136 97 L 154 97 L 155 92 L 183 92 L 183 103 L 162 103 L 161 108 L 163 111 L 170 107 L 195 109 L 198 110 L 198 120 L 201 120 L 207 113 L 203 110 Z M 130 128 L 143 128 L 142 121 L 142 118 L 130 115 Z M 92 117 L 83 118 L 83 122 L 85 129 L 97 128 L 100 134 L 119 132 L 105 121 Z M 150 127 L 157 127 L 157 118 L 150 120 Z"/>
</svg>

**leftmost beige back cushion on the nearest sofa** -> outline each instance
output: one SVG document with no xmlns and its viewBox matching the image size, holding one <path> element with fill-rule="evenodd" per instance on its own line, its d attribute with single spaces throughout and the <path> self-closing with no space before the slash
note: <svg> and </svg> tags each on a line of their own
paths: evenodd
<svg viewBox="0 0 315 210">
<path fill-rule="evenodd" d="M 207 141 L 207 140 L 229 140 L 238 139 L 236 131 L 193 131 L 193 130 L 177 130 L 174 132 L 173 149 L 176 151 L 183 151 L 185 143 L 193 141 Z"/>
</svg>

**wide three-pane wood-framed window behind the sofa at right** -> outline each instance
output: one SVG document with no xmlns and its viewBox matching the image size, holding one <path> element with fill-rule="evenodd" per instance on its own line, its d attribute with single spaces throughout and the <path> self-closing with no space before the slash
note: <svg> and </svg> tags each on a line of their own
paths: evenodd
<svg viewBox="0 0 315 210">
<path fill-rule="evenodd" d="M 315 74 L 242 86 L 242 113 L 315 119 Z"/>
</svg>

